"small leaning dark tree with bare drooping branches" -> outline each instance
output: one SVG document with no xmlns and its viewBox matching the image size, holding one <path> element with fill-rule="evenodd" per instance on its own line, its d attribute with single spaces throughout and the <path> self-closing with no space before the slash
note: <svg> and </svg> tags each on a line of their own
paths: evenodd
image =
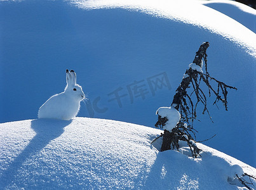
<svg viewBox="0 0 256 190">
<path fill-rule="evenodd" d="M 201 82 L 204 82 L 208 86 L 209 96 L 213 94 L 216 97 L 213 105 L 221 101 L 227 110 L 227 89 L 236 89 L 236 87 L 226 85 L 224 82 L 220 82 L 209 75 L 206 59 L 206 49 L 208 47 L 209 42 L 203 42 L 203 44 L 201 44 L 199 50 L 196 52 L 194 61 L 185 71 L 182 82 L 180 82 L 173 96 L 171 107 L 179 111 L 180 122 L 172 130 L 165 129 L 164 133 L 161 134 L 161 137 L 163 137 L 161 151 L 179 149 L 179 141 L 186 141 L 191 149 L 192 156 L 196 158 L 199 155 L 200 149 L 196 146 L 196 141 L 194 140 L 196 130 L 193 127 L 193 122 L 197 117 L 196 108 L 198 103 L 203 105 L 203 113 L 206 111 L 210 117 L 205 92 L 200 88 Z M 205 62 L 205 73 L 202 71 L 203 60 Z M 212 87 L 210 84 L 211 80 L 217 83 L 217 89 Z M 188 89 L 192 89 L 190 94 L 187 92 Z M 194 98 L 192 96 L 194 96 Z M 194 101 L 194 99 L 196 99 L 196 101 Z M 155 127 L 163 129 L 167 121 L 167 117 L 162 117 L 158 114 L 158 122 L 156 122 Z"/>
</svg>

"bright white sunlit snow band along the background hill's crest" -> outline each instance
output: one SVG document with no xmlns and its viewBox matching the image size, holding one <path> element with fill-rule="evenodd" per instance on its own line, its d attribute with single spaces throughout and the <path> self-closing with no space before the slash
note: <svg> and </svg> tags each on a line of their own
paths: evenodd
<svg viewBox="0 0 256 190">
<path fill-rule="evenodd" d="M 200 1 L 72 0 L 71 2 L 76 4 L 79 8 L 84 9 L 124 8 L 142 11 L 143 13 L 159 16 L 161 18 L 198 25 L 207 28 L 214 33 L 224 35 L 232 41 L 238 41 L 239 44 L 243 44 L 242 46 L 252 49 L 249 53 L 256 56 L 255 44 L 253 44 L 255 42 L 255 37 L 253 39 L 254 42 L 250 39 L 254 34 L 251 30 L 240 26 L 241 30 L 234 31 L 232 28 L 237 27 L 238 25 L 236 21 L 232 20 L 229 16 L 215 12 L 214 9 L 201 6 Z M 184 3 L 186 6 L 184 6 Z M 229 24 L 227 25 L 226 23 Z"/>
</svg>

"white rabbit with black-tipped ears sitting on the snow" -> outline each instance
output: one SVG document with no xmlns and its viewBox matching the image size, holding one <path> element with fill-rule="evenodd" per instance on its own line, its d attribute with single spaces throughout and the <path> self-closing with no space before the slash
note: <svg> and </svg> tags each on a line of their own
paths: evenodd
<svg viewBox="0 0 256 190">
<path fill-rule="evenodd" d="M 66 70 L 67 86 L 64 92 L 51 96 L 38 111 L 38 118 L 56 118 L 71 120 L 76 117 L 80 101 L 84 99 L 84 92 L 80 85 L 76 84 L 74 70 Z"/>
</svg>

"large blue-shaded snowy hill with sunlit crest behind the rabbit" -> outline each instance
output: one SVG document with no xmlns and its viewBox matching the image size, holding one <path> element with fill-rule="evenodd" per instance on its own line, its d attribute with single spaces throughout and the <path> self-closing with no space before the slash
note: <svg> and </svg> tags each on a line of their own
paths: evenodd
<svg viewBox="0 0 256 190">
<path fill-rule="evenodd" d="M 209 99 L 214 123 L 199 116 L 198 141 L 217 134 L 205 144 L 256 167 L 256 34 L 196 2 L 0 1 L 0 122 L 37 118 L 72 69 L 89 98 L 79 117 L 154 127 L 155 111 L 170 106 L 209 41 L 210 74 L 238 91 L 229 92 L 229 111 Z"/>
</svg>

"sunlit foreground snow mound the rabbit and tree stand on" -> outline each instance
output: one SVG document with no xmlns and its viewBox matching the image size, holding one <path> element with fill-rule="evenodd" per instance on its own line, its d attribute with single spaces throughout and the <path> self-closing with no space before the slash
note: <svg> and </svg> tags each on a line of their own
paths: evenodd
<svg viewBox="0 0 256 190">
<path fill-rule="evenodd" d="M 161 130 L 125 122 L 39 119 L 0 129 L 0 189 L 240 189 L 235 174 L 256 174 L 203 144 L 202 158 L 185 147 L 159 152 L 151 141 Z"/>
</svg>

